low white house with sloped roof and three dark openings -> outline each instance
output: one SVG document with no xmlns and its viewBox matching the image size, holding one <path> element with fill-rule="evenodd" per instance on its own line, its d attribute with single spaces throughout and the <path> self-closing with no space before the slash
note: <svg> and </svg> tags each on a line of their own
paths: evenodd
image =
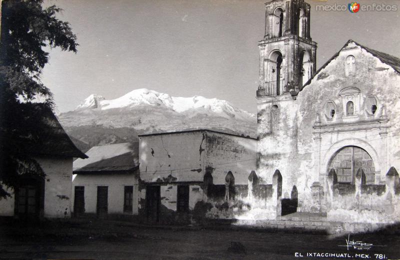
<svg viewBox="0 0 400 260">
<path fill-rule="evenodd" d="M 132 219 L 138 204 L 138 145 L 94 146 L 73 162 L 73 214 Z"/>
</svg>

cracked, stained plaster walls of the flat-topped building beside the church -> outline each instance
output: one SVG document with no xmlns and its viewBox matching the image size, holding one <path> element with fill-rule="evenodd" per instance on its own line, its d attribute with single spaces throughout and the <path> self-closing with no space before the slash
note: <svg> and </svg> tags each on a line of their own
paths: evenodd
<svg viewBox="0 0 400 260">
<path fill-rule="evenodd" d="M 212 185 L 223 187 L 231 171 L 235 184 L 246 186 L 255 169 L 256 140 L 212 131 L 187 131 L 162 135 L 140 136 L 139 168 L 143 186 L 160 185 L 160 218 L 170 219 L 176 213 L 177 186 L 189 186 L 189 212 L 206 201 L 204 174 L 212 177 Z M 241 189 L 243 190 L 243 189 Z M 140 198 L 145 199 L 145 189 Z M 145 206 L 145 202 L 140 204 Z M 143 211 L 144 213 L 144 211 Z"/>
</svg>

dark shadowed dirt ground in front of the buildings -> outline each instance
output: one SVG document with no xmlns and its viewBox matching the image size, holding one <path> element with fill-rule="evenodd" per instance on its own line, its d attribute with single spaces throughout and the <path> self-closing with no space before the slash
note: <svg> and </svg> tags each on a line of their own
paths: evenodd
<svg viewBox="0 0 400 260">
<path fill-rule="evenodd" d="M 347 248 L 348 235 L 349 241 L 373 245 L 369 250 Z M 311 255 L 307 257 L 307 253 Z M 333 236 L 230 227 L 143 227 L 88 220 L 32 226 L 13 221 L 0 223 L 0 259 L 387 260 L 400 259 L 400 236 L 384 232 Z"/>
</svg>

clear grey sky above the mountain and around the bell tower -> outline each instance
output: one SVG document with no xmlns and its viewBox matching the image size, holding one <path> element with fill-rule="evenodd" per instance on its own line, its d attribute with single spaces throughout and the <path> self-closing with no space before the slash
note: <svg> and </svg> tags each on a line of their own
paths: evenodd
<svg viewBox="0 0 400 260">
<path fill-rule="evenodd" d="M 264 34 L 266 0 L 44 0 L 63 11 L 77 36 L 77 53 L 49 49 L 42 82 L 56 112 L 73 110 L 90 94 L 106 99 L 148 88 L 171 96 L 227 100 L 256 112 L 258 41 Z M 400 57 L 397 11 L 317 11 L 311 4 L 310 34 L 317 68 L 348 39 Z"/>
</svg>

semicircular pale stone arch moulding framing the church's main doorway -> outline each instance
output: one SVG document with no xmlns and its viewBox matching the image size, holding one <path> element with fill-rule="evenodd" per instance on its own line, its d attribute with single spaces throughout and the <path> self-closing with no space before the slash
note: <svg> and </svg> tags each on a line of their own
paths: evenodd
<svg viewBox="0 0 400 260">
<path fill-rule="evenodd" d="M 344 147 L 358 147 L 364 150 L 373 161 L 374 173 L 380 174 L 380 165 L 381 162 L 379 157 L 375 151 L 375 149 L 366 141 L 358 139 L 358 138 L 348 138 L 340 140 L 329 147 L 329 149 L 325 152 L 323 156 L 321 165 L 320 165 L 320 173 L 328 173 L 330 170 L 329 164 L 332 158 Z M 337 174 L 337 173 L 336 173 Z"/>
</svg>

